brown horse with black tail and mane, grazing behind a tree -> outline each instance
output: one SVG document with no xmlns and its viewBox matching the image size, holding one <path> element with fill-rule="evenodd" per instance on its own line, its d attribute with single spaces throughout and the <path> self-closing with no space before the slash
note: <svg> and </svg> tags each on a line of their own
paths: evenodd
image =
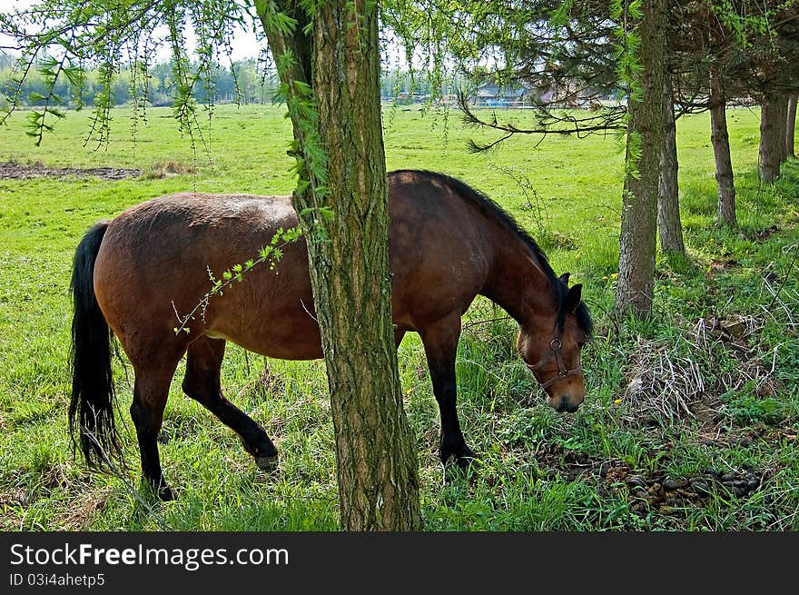
<svg viewBox="0 0 799 595">
<path fill-rule="evenodd" d="M 456 411 L 455 354 L 460 317 L 479 294 L 519 324 L 517 348 L 557 411 L 575 412 L 585 384 L 580 349 L 591 319 L 581 286 L 567 288 L 544 253 L 513 219 L 467 184 L 446 175 L 389 175 L 392 314 L 396 340 L 418 332 L 439 402 L 440 457 L 468 464 L 475 454 Z M 277 450 L 261 426 L 222 395 L 225 342 L 288 360 L 321 358 L 303 240 L 286 246 L 274 270 L 255 267 L 202 316 L 175 332 L 235 263 L 257 257 L 280 228 L 297 225 L 288 196 L 181 193 L 137 204 L 86 233 L 74 257 L 73 392 L 70 431 L 90 466 L 119 455 L 113 423 L 111 339 L 133 364 L 131 416 L 143 479 L 161 498 L 156 439 L 173 374 L 186 354 L 183 391 L 238 433 L 262 468 Z"/>
</svg>

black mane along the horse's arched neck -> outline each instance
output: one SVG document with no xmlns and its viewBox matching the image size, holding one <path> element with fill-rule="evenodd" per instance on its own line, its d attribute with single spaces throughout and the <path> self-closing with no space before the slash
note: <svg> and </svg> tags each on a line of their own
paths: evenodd
<svg viewBox="0 0 799 595">
<path fill-rule="evenodd" d="M 552 270 L 552 265 L 549 264 L 547 254 L 544 253 L 528 231 L 519 225 L 513 216 L 499 206 L 498 203 L 488 198 L 486 194 L 472 188 L 468 183 L 461 182 L 459 179 L 453 178 L 447 174 L 440 174 L 439 172 L 431 172 L 429 170 L 397 170 L 390 174 L 402 173 L 423 175 L 431 180 L 449 186 L 449 188 L 461 198 L 474 205 L 480 213 L 498 221 L 498 223 L 508 229 L 509 232 L 514 233 L 518 239 L 528 247 L 528 250 L 532 253 L 541 267 L 541 270 L 544 272 L 544 275 L 547 277 L 547 281 L 557 298 L 557 326 L 558 328 L 562 328 L 567 313 L 564 311 L 564 303 L 566 302 L 568 288 L 565 283 L 560 281 L 555 271 Z M 590 335 L 594 330 L 594 322 L 591 320 L 591 314 L 588 312 L 585 302 L 579 303 L 575 315 L 577 316 L 577 324 L 584 332 Z"/>
</svg>

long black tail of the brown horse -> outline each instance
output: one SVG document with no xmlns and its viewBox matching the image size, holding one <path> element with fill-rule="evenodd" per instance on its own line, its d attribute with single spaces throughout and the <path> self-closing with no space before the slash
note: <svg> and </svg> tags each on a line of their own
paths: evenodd
<svg viewBox="0 0 799 595">
<path fill-rule="evenodd" d="M 119 434 L 113 422 L 112 336 L 94 295 L 94 261 L 107 222 L 95 223 L 74 255 L 70 292 L 72 319 L 72 399 L 69 433 L 73 452 L 80 446 L 90 468 L 122 460 Z"/>
</svg>

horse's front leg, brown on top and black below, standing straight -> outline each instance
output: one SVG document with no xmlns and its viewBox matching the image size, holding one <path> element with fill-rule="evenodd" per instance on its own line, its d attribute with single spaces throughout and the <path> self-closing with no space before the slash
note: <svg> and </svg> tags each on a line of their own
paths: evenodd
<svg viewBox="0 0 799 595">
<path fill-rule="evenodd" d="M 460 431 L 455 377 L 455 354 L 460 337 L 460 316 L 452 315 L 419 331 L 428 360 L 433 394 L 439 402 L 441 418 L 441 462 L 454 459 L 460 467 L 469 467 L 477 455 L 466 445 Z"/>
</svg>

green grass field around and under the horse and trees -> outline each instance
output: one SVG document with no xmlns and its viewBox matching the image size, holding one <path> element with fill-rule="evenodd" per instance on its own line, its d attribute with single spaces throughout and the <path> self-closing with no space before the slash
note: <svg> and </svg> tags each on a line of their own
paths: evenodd
<svg viewBox="0 0 799 595">
<path fill-rule="evenodd" d="M 528 114 L 508 113 L 523 121 Z M 180 392 L 163 426 L 164 473 L 180 500 L 148 510 L 127 414 L 132 372 L 114 362 L 130 469 L 89 473 L 66 432 L 74 248 L 87 228 L 175 191 L 290 193 L 291 128 L 274 106 L 217 107 L 202 142 L 167 109 L 113 114 L 111 144 L 84 147 L 71 113 L 42 147 L 24 114 L 0 129 L 0 162 L 141 170 L 0 179 L 0 529 L 328 531 L 338 527 L 330 405 L 322 362 L 264 363 L 230 345 L 229 398 L 260 421 L 281 469 L 256 471 L 232 431 Z M 455 113 L 388 108 L 389 169 L 438 170 L 518 218 L 557 273 L 584 283 L 597 336 L 584 352 L 587 399 L 549 410 L 513 350 L 515 324 L 488 302 L 467 313 L 459 412 L 483 466 L 466 476 L 437 457 L 438 408 L 421 344 L 400 347 L 418 437 L 425 528 L 434 531 L 795 531 L 799 529 L 799 164 L 761 187 L 758 114 L 730 112 L 740 228 L 715 225 L 705 115 L 678 123 L 687 259 L 659 258 L 650 321 L 608 314 L 617 271 L 623 154 L 612 136 L 511 139 L 487 155 Z"/>
</svg>

